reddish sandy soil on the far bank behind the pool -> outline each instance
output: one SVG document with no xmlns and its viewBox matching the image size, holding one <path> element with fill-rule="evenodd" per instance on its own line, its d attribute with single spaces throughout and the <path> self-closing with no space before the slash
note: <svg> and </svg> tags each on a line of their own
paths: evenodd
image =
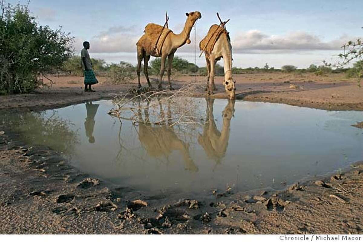
<svg viewBox="0 0 363 242">
<path fill-rule="evenodd" d="M 127 92 L 136 87 L 136 80 L 122 85 L 109 85 L 105 78 L 94 85 L 95 93 L 83 92 L 83 77 L 51 77 L 55 84 L 50 88 L 38 89 L 24 95 L 0 96 L 0 109 L 30 108 L 48 109 L 84 102 L 112 98 L 120 91 Z M 279 102 L 290 105 L 329 110 L 363 110 L 363 88 L 356 80 L 345 79 L 344 74 L 316 76 L 315 74 L 261 73 L 235 75 L 236 98 L 248 101 Z M 156 78 L 152 78 L 154 86 Z M 197 96 L 204 96 L 206 77 L 175 76 L 173 86 L 178 88 L 185 83 L 200 83 Z M 219 89 L 216 98 L 225 98 L 223 77 L 216 77 Z M 146 80 L 142 78 L 142 84 Z M 298 88 L 290 88 L 291 84 Z M 164 87 L 166 82 L 164 82 Z"/>
</svg>

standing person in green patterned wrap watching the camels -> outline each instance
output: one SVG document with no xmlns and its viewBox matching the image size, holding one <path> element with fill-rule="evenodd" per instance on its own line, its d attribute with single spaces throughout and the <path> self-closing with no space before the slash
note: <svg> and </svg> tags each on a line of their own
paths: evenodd
<svg viewBox="0 0 363 242">
<path fill-rule="evenodd" d="M 95 92 L 95 90 L 91 89 L 91 85 L 97 84 L 98 81 L 92 70 L 92 62 L 90 54 L 88 53 L 90 43 L 88 41 L 83 42 L 83 47 L 81 51 L 81 62 L 85 74 L 85 92 Z"/>
</svg>

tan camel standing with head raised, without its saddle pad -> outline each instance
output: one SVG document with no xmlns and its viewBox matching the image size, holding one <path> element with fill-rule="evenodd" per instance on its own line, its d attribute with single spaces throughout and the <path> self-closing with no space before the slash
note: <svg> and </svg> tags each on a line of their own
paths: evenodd
<svg viewBox="0 0 363 242">
<path fill-rule="evenodd" d="M 139 41 L 136 43 L 137 61 L 138 61 L 137 76 L 138 76 L 138 81 L 139 81 L 138 88 L 141 88 L 140 69 L 141 69 L 142 60 L 144 60 L 144 74 L 145 74 L 145 77 L 147 80 L 147 84 L 149 85 L 150 88 L 152 88 L 150 79 L 149 79 L 149 75 L 147 72 L 147 64 L 148 64 L 148 61 L 150 60 L 150 56 L 154 56 L 154 57 L 161 57 L 160 79 L 159 79 L 158 89 L 159 90 L 162 89 L 161 82 L 162 82 L 163 75 L 164 75 L 165 61 L 166 61 L 167 57 L 168 57 L 169 89 L 172 89 L 171 82 L 170 82 L 170 75 L 171 75 L 171 64 L 172 64 L 172 61 L 174 58 L 174 53 L 176 52 L 176 50 L 179 47 L 181 47 L 185 43 L 187 43 L 187 40 L 189 40 L 189 35 L 193 28 L 195 21 L 202 17 L 201 13 L 197 12 L 197 11 L 185 13 L 185 15 L 187 15 L 187 21 L 185 21 L 185 26 L 184 26 L 183 31 L 181 31 L 180 34 L 175 34 L 175 33 L 171 32 L 167 35 L 167 37 L 164 41 L 163 47 L 161 49 L 161 55 L 156 55 L 155 53 L 151 53 L 152 48 L 150 48 L 150 46 L 154 46 L 156 40 L 150 40 L 147 36 L 147 33 L 145 33 L 143 36 L 141 36 Z M 188 41 L 188 43 L 190 43 L 190 40 Z"/>
</svg>

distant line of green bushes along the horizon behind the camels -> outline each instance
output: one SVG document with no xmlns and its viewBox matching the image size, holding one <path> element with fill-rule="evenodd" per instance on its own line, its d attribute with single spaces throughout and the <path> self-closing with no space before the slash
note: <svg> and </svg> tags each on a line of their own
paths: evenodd
<svg viewBox="0 0 363 242">
<path fill-rule="evenodd" d="M 120 83 L 136 77 L 136 66 L 121 61 L 119 64 L 106 64 L 102 59 L 91 59 L 93 69 L 98 76 L 105 76 L 107 79 L 113 83 Z M 328 73 L 346 73 L 347 77 L 362 77 L 362 61 L 357 61 L 352 68 L 336 68 L 333 69 L 327 65 L 314 65 L 311 64 L 309 68 L 298 69 L 294 65 L 284 65 L 281 69 L 270 67 L 268 63 L 262 68 L 260 67 L 248 67 L 248 68 L 238 68 L 233 67 L 233 74 L 252 74 L 252 73 L 314 73 L 317 76 L 325 75 Z M 156 58 L 150 61 L 148 65 L 148 73 L 150 75 L 157 76 L 160 71 L 161 60 Z M 166 63 L 166 68 L 167 68 Z M 143 72 L 143 66 L 141 67 L 141 72 Z M 70 76 L 82 76 L 83 71 L 81 67 L 81 58 L 79 56 L 73 56 L 64 62 L 60 68 L 60 74 L 70 75 Z M 195 75 L 207 76 L 207 68 L 199 67 L 194 63 L 191 63 L 180 57 L 174 57 L 172 62 L 172 73 L 175 75 Z M 223 66 L 217 64 L 215 66 L 215 75 L 223 76 L 224 68 Z"/>
</svg>

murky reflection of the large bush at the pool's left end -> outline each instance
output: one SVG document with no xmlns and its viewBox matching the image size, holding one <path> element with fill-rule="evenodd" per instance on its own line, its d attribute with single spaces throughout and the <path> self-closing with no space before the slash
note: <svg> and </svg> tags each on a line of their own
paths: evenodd
<svg viewBox="0 0 363 242">
<path fill-rule="evenodd" d="M 60 152 L 72 152 L 79 143 L 78 133 L 70 128 L 72 123 L 45 112 L 4 113 L 0 121 L 4 126 L 20 133 L 30 145 L 44 145 Z"/>
</svg>

